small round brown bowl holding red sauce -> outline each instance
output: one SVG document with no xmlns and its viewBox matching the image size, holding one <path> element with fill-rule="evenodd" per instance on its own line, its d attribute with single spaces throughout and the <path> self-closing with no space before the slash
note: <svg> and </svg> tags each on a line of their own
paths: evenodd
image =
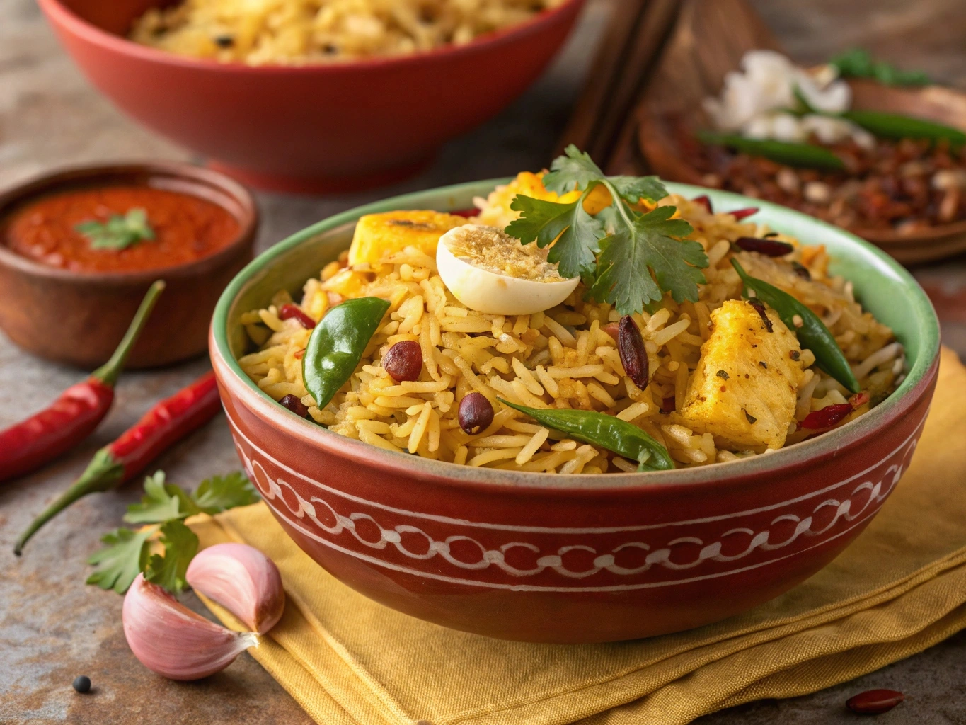
<svg viewBox="0 0 966 725">
<path fill-rule="evenodd" d="M 44 194 L 108 184 L 147 185 L 200 196 L 239 221 L 227 246 L 188 264 L 153 272 L 72 272 L 20 256 L 0 240 L 0 329 L 42 358 L 94 368 L 121 341 L 155 279 L 167 288 L 128 359 L 155 367 L 203 353 L 208 325 L 225 285 L 252 258 L 258 211 L 245 188 L 215 171 L 183 163 L 132 163 L 74 168 L 0 194 L 3 219 Z"/>
</svg>

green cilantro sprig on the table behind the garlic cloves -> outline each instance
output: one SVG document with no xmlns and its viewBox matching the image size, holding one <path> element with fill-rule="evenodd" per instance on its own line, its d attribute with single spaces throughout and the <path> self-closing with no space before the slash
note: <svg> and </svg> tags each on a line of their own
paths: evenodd
<svg viewBox="0 0 966 725">
<path fill-rule="evenodd" d="M 87 578 L 105 590 L 118 594 L 128 591 L 141 572 L 172 594 L 185 590 L 185 572 L 198 552 L 198 536 L 185 526 L 184 519 L 196 513 L 218 513 L 228 508 L 247 506 L 259 500 L 251 482 L 241 473 L 206 478 L 191 493 L 168 483 L 164 472 L 144 480 L 145 495 L 140 504 L 128 506 L 128 524 L 147 524 L 137 530 L 121 528 L 101 536 L 104 548 L 95 552 L 88 564 L 94 572 Z M 152 554 L 157 541 L 164 555 Z"/>
</svg>

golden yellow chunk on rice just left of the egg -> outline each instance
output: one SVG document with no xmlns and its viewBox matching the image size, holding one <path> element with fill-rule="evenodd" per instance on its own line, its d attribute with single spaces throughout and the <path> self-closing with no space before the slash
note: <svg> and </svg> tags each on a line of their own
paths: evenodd
<svg viewBox="0 0 966 725">
<path fill-rule="evenodd" d="M 355 223 L 353 244 L 349 247 L 349 265 L 362 262 L 375 264 L 407 246 L 414 246 L 436 257 L 440 237 L 453 227 L 466 223 L 465 217 L 426 210 L 367 214 L 359 217 Z"/>
</svg>

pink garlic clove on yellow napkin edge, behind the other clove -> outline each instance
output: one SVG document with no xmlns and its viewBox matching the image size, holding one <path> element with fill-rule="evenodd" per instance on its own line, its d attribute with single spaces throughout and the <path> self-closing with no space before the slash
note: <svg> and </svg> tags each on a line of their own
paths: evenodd
<svg viewBox="0 0 966 725">
<path fill-rule="evenodd" d="M 285 591 L 278 567 L 258 549 L 223 543 L 202 549 L 185 575 L 191 588 L 265 634 L 281 619 Z"/>
</svg>

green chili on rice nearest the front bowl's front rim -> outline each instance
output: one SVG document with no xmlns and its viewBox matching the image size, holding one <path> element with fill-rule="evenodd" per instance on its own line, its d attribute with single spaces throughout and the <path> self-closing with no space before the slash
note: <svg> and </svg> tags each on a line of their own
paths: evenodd
<svg viewBox="0 0 966 725">
<path fill-rule="evenodd" d="M 526 405 L 517 405 L 503 398 L 497 400 L 526 413 L 541 425 L 639 461 L 639 471 L 669 471 L 674 468 L 668 450 L 626 420 L 596 411 L 527 408 Z"/>
</svg>

